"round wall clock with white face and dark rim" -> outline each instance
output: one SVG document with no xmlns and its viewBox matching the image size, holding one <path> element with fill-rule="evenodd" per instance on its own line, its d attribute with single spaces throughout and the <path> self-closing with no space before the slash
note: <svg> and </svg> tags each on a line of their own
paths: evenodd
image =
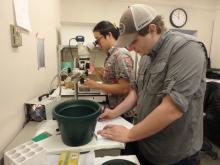
<svg viewBox="0 0 220 165">
<path fill-rule="evenodd" d="M 174 9 L 170 14 L 170 23 L 177 28 L 183 27 L 187 21 L 186 11 L 182 8 Z"/>
</svg>

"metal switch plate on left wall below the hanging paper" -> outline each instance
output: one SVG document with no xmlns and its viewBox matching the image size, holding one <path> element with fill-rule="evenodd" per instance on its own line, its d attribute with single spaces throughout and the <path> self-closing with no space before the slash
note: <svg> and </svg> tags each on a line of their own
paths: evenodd
<svg viewBox="0 0 220 165">
<path fill-rule="evenodd" d="M 21 29 L 16 25 L 10 25 L 11 46 L 17 48 L 22 46 Z"/>
</svg>

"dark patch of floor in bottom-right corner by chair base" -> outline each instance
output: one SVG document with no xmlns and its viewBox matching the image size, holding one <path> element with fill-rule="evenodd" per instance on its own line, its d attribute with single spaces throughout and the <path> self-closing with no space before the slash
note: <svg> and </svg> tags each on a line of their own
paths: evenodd
<svg viewBox="0 0 220 165">
<path fill-rule="evenodd" d="M 220 147 L 213 145 L 213 150 L 217 152 L 218 158 L 213 160 L 210 155 L 205 152 L 201 152 L 201 165 L 220 165 Z"/>
</svg>

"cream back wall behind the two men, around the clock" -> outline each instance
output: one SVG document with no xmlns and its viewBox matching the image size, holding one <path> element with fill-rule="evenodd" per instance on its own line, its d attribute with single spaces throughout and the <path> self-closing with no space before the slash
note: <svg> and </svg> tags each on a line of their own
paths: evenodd
<svg viewBox="0 0 220 165">
<path fill-rule="evenodd" d="M 169 23 L 171 11 L 176 7 L 184 8 L 187 11 L 188 22 L 183 29 L 197 30 L 197 37 L 205 43 L 208 52 L 210 51 L 212 23 L 215 20 L 214 9 L 219 4 L 218 0 L 93 0 L 92 3 L 91 0 L 62 0 L 62 28 L 68 29 L 68 32 L 65 31 L 68 34 L 73 34 L 76 33 L 74 30 L 79 24 L 94 26 L 101 20 L 109 20 L 118 25 L 122 12 L 128 5 L 134 3 L 147 3 L 153 6 L 164 16 L 168 28 L 173 28 Z M 70 32 L 71 26 L 72 32 Z M 77 32 L 80 33 L 81 30 Z M 88 38 L 92 38 L 92 33 Z M 220 63 L 218 65 L 220 67 Z"/>
</svg>

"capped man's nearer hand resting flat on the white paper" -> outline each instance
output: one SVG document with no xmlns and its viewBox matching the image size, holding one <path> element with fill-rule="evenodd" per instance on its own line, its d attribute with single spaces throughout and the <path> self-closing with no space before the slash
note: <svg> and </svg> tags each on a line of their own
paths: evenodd
<svg viewBox="0 0 220 165">
<path fill-rule="evenodd" d="M 127 143 L 130 141 L 128 138 L 129 131 L 130 129 L 122 125 L 109 124 L 106 125 L 103 130 L 99 130 L 98 134 L 108 139 Z"/>
</svg>

